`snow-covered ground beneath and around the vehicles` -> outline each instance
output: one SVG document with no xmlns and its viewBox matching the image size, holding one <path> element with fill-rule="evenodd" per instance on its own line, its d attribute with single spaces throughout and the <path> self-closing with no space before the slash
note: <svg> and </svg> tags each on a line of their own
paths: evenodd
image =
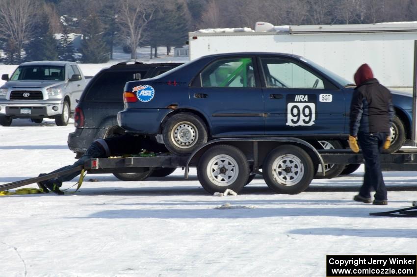
<svg viewBox="0 0 417 277">
<path fill-rule="evenodd" d="M 0 184 L 73 163 L 73 129 L 52 120 L 0 126 Z M 368 215 L 411 206 L 416 173 L 384 174 L 383 207 L 352 201 L 362 175 L 316 179 L 298 195 L 274 194 L 256 178 L 238 196 L 215 197 L 195 171 L 184 180 L 179 169 L 141 182 L 87 175 L 64 196 L 3 196 L 0 276 L 322 277 L 326 254 L 416 254 L 415 218 Z M 217 209 L 227 202 L 235 209 Z"/>
</svg>

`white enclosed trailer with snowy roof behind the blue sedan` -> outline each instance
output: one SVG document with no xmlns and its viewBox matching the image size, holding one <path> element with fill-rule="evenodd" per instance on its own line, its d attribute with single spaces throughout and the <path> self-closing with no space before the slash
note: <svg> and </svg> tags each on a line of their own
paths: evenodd
<svg viewBox="0 0 417 277">
<path fill-rule="evenodd" d="M 267 27 L 265 27 L 267 26 Z M 259 31 L 260 27 L 267 31 Z M 206 29 L 189 33 L 190 60 L 228 52 L 283 52 L 304 56 L 353 81 L 367 63 L 379 81 L 412 91 L 417 22 L 358 25 L 272 26 Z"/>
</svg>

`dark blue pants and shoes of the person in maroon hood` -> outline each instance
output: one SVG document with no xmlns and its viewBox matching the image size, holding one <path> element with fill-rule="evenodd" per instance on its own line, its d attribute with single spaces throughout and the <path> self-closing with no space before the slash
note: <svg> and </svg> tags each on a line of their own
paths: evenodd
<svg viewBox="0 0 417 277">
<path fill-rule="evenodd" d="M 381 172 L 382 147 L 387 139 L 388 133 L 358 133 L 358 143 L 361 146 L 365 158 L 365 176 L 359 194 L 362 197 L 370 198 L 372 188 L 375 190 L 375 200 L 387 200 L 387 188 Z"/>
</svg>

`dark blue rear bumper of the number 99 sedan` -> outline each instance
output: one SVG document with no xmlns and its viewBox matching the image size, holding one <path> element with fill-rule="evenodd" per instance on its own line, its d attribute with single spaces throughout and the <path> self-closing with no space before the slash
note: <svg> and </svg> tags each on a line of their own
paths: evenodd
<svg viewBox="0 0 417 277">
<path fill-rule="evenodd" d="M 131 109 L 117 114 L 119 126 L 127 131 L 154 135 L 158 134 L 162 120 L 172 109 Z"/>
</svg>

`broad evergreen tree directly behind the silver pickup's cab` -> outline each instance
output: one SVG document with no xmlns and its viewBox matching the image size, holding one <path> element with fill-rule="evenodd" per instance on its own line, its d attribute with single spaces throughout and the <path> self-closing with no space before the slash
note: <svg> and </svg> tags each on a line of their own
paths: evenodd
<svg viewBox="0 0 417 277">
<path fill-rule="evenodd" d="M 53 37 L 48 19 L 40 20 L 25 50 L 26 61 L 58 60 L 58 41 Z"/>
</svg>

